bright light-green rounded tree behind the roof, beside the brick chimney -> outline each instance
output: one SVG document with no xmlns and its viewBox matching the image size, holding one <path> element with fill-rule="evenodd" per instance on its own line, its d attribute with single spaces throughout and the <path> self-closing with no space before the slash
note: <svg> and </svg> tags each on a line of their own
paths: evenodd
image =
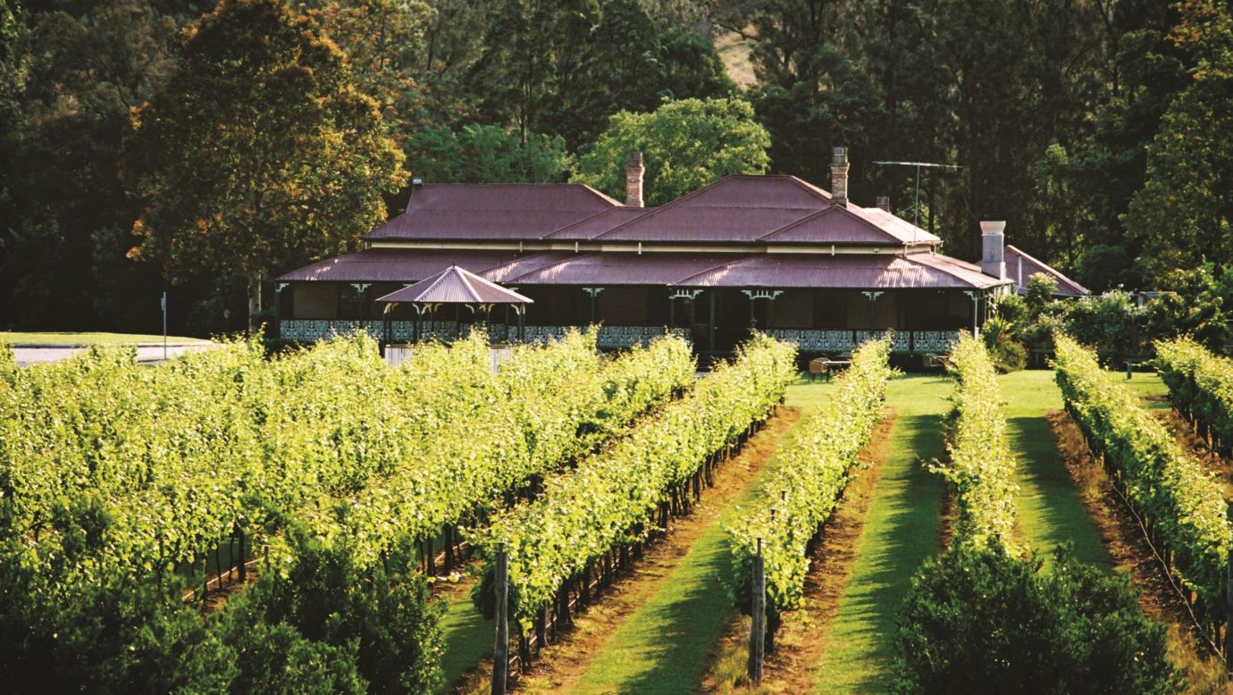
<svg viewBox="0 0 1233 695">
<path fill-rule="evenodd" d="M 762 174 L 771 136 L 736 97 L 667 101 L 651 113 L 621 111 L 578 160 L 572 181 L 625 195 L 625 156 L 646 161 L 646 205 L 663 205 L 729 174 Z"/>
</svg>

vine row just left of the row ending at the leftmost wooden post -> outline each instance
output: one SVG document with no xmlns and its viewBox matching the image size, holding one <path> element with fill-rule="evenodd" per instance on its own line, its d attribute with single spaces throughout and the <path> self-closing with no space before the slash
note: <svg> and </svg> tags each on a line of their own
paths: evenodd
<svg viewBox="0 0 1233 695">
<path fill-rule="evenodd" d="M 593 354 L 593 335 L 566 341 Z M 608 442 L 634 419 L 667 402 L 694 378 L 679 338 L 634 349 L 604 368 L 581 373 L 523 349 L 502 367 L 499 407 L 445 424 L 408 457 L 397 474 L 351 499 L 323 499 L 297 514 L 318 536 L 359 542 L 369 559 L 397 539 L 432 539 L 482 520 L 502 498 Z"/>
</svg>

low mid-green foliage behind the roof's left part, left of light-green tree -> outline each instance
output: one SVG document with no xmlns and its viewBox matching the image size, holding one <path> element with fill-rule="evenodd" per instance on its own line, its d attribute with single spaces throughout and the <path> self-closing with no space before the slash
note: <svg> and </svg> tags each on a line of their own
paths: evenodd
<svg viewBox="0 0 1233 695">
<path fill-rule="evenodd" d="M 560 137 L 518 133 L 498 126 L 441 126 L 411 140 L 407 166 L 432 184 L 551 184 L 563 181 L 573 158 Z"/>
</svg>

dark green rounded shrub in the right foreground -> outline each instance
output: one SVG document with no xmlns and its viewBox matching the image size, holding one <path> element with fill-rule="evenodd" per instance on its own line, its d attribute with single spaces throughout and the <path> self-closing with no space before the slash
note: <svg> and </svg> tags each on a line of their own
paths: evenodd
<svg viewBox="0 0 1233 695">
<path fill-rule="evenodd" d="M 1181 690 L 1164 625 L 1124 577 L 1059 550 L 1039 558 L 957 545 L 912 580 L 894 638 L 898 693 Z M 996 684 L 996 686 L 994 686 Z"/>
</svg>

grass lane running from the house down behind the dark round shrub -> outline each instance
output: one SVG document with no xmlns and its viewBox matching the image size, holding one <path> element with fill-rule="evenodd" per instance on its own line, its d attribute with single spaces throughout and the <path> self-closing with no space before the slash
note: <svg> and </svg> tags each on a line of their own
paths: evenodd
<svg viewBox="0 0 1233 695">
<path fill-rule="evenodd" d="M 1044 418 L 1046 412 L 1062 409 L 1062 392 L 1053 372 L 1014 372 L 1000 376 L 999 386 L 1017 463 L 1017 521 L 1023 540 L 1046 557 L 1046 563 L 1054 548 L 1073 542 L 1078 559 L 1111 568 L 1100 532 L 1079 499 Z"/>
</svg>

